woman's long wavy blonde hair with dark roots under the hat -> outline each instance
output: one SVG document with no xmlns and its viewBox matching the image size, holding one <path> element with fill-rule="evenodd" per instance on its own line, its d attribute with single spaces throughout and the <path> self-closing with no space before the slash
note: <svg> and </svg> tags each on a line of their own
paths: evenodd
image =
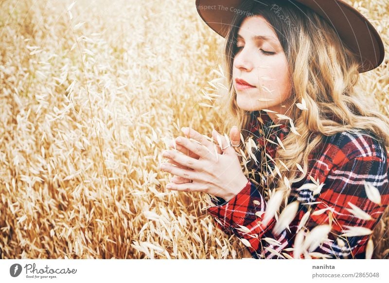
<svg viewBox="0 0 389 283">
<path fill-rule="evenodd" d="M 290 22 L 280 20 L 274 11 L 269 9 L 272 3 L 282 7 L 283 14 L 288 16 Z M 301 164 L 304 172 L 307 172 L 308 156 L 311 151 L 322 142 L 323 136 L 331 136 L 338 132 L 357 133 L 366 130 L 373 134 L 372 138 L 382 142 L 388 151 L 389 118 L 378 109 L 368 109 L 370 103 L 365 100 L 363 91 L 356 88 L 359 79 L 357 54 L 348 49 L 329 23 L 311 9 L 298 3 L 291 4 L 289 1 L 275 0 L 270 3 L 267 1 L 266 4 L 268 5 L 264 6 L 260 2 L 246 0 L 239 9 L 254 16 L 261 15 L 270 23 L 287 58 L 292 82 L 290 99 L 294 103 L 293 109 L 287 109 L 286 114 L 292 119 L 301 136 L 289 134 L 283 139 L 285 150 L 277 151 L 274 159 L 281 176 L 287 177 L 290 184 L 302 180 L 305 175 L 301 175 L 296 163 Z M 235 14 L 226 37 L 224 63 L 229 95 L 221 98 L 219 114 L 224 132 L 228 133 L 232 125 L 237 125 L 241 129 L 244 141 L 241 149 L 246 153 L 251 134 L 248 128 L 250 113 L 237 106 L 232 82 L 232 64 L 236 53 L 236 35 L 247 15 Z M 302 99 L 305 100 L 308 111 L 296 106 Z M 248 170 L 248 167 L 254 167 L 252 159 L 251 163 L 244 162 L 244 165 L 246 173 L 253 176 L 250 179 L 258 184 L 259 177 L 254 176 L 254 170 Z M 267 177 L 269 178 L 267 184 L 274 187 L 259 186 L 265 197 L 268 197 L 269 191 L 273 191 L 274 188 L 287 192 L 284 182 L 278 179 L 274 171 Z M 374 229 L 373 240 L 381 240 L 380 244 L 375 246 L 374 258 L 381 258 L 382 248 L 388 246 L 388 239 L 383 239 L 385 225 L 388 224 L 385 223 L 385 219 L 389 217 L 383 216 Z"/>
</svg>

